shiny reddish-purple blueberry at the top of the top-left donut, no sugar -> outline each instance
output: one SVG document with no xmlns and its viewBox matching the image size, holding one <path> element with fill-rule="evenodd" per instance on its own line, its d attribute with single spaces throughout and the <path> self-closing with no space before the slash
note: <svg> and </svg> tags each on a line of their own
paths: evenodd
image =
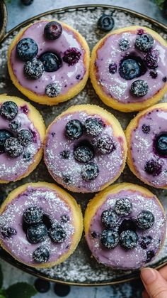
<svg viewBox="0 0 167 298">
<path fill-rule="evenodd" d="M 62 35 L 62 25 L 57 21 L 49 22 L 44 28 L 44 34 L 47 39 L 54 41 Z"/>
</svg>

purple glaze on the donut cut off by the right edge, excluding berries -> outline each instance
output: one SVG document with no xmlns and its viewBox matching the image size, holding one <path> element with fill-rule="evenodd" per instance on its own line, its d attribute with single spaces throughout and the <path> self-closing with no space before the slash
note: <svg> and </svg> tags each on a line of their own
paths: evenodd
<svg viewBox="0 0 167 298">
<path fill-rule="evenodd" d="M 146 134 L 142 131 L 143 124 L 150 126 L 149 133 Z M 167 186 L 167 158 L 155 153 L 154 139 L 156 135 L 162 132 L 167 132 L 167 110 L 155 108 L 139 118 L 137 127 L 132 130 L 131 143 L 129 144 L 134 168 L 140 179 L 160 188 Z M 156 159 L 162 164 L 162 171 L 159 176 L 149 175 L 144 171 L 144 165 L 150 159 Z"/>
</svg>

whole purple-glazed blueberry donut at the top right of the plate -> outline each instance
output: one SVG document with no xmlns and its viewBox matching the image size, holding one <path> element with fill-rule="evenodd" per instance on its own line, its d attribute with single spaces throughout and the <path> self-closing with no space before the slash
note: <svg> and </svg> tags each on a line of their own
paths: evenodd
<svg viewBox="0 0 167 298">
<path fill-rule="evenodd" d="M 93 48 L 91 82 L 105 105 L 122 112 L 144 110 L 167 91 L 167 44 L 155 31 L 120 28 Z"/>
</svg>

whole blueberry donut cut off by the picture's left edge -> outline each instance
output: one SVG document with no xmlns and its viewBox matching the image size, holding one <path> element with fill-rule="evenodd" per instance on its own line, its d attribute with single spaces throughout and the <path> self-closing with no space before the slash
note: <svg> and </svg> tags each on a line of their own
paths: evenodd
<svg viewBox="0 0 167 298">
<path fill-rule="evenodd" d="M 0 95 L 0 183 L 28 176 L 42 158 L 45 124 L 30 103 Z"/>
</svg>

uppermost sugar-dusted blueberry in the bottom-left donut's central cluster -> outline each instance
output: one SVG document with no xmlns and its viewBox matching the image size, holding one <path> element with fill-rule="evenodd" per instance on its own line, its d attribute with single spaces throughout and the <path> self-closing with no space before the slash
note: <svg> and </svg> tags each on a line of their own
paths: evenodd
<svg viewBox="0 0 167 298">
<path fill-rule="evenodd" d="M 40 223 L 42 221 L 42 216 L 42 208 L 37 206 L 29 207 L 23 213 L 23 219 L 28 225 Z"/>
</svg>

